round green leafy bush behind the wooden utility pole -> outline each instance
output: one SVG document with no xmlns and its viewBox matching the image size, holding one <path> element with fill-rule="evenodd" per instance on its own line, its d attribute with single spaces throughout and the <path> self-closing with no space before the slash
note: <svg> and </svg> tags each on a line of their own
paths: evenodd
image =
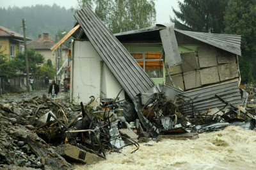
<svg viewBox="0 0 256 170">
<path fill-rule="evenodd" d="M 15 65 L 17 65 L 17 68 L 19 68 L 19 70 L 26 73 L 26 63 L 24 54 L 18 53 L 15 59 L 13 59 L 13 62 L 15 62 Z M 39 54 L 35 50 L 28 50 L 29 73 L 35 74 L 42 63 L 44 63 L 44 56 L 42 56 L 42 54 Z"/>
</svg>

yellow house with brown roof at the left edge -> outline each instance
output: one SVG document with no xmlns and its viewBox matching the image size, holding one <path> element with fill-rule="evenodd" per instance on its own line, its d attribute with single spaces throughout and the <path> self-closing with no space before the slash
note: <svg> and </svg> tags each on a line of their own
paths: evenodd
<svg viewBox="0 0 256 170">
<path fill-rule="evenodd" d="M 26 38 L 30 41 L 30 38 Z M 4 56 L 9 61 L 17 55 L 17 52 L 24 51 L 23 35 L 16 33 L 6 27 L 0 26 L 0 51 L 3 51 Z"/>
</svg>

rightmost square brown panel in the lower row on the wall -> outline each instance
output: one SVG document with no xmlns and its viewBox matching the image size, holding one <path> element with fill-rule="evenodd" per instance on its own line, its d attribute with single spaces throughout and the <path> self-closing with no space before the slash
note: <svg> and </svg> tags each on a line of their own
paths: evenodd
<svg viewBox="0 0 256 170">
<path fill-rule="evenodd" d="M 236 63 L 226 63 L 218 65 L 220 81 L 227 81 L 239 77 Z"/>
</svg>

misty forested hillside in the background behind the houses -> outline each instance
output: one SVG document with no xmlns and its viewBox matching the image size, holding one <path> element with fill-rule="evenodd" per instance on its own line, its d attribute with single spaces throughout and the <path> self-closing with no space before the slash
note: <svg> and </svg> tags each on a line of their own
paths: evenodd
<svg viewBox="0 0 256 170">
<path fill-rule="evenodd" d="M 20 26 L 22 19 L 26 19 L 29 38 L 37 38 L 42 33 L 49 33 L 54 37 L 58 29 L 70 30 L 75 23 L 71 8 L 67 10 L 56 4 L 0 8 L 0 16 L 0 25 L 17 33 L 22 33 Z"/>
</svg>

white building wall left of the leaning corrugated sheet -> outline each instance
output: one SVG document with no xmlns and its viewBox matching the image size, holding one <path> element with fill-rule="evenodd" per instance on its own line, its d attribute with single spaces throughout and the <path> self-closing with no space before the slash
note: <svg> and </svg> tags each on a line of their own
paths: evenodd
<svg viewBox="0 0 256 170">
<path fill-rule="evenodd" d="M 89 102 L 90 96 L 115 98 L 122 86 L 109 70 L 97 51 L 89 41 L 74 40 L 73 57 L 71 61 L 70 98 L 74 102 Z M 124 99 L 124 91 L 120 94 Z"/>
</svg>

